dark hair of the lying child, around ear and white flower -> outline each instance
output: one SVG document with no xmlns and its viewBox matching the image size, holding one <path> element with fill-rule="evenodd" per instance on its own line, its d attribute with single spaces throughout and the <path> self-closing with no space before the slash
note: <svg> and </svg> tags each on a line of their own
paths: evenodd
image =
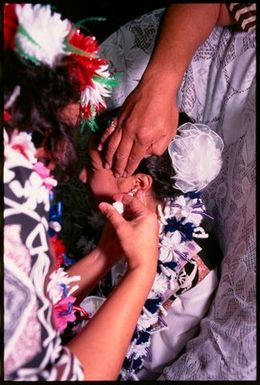
<svg viewBox="0 0 260 385">
<path fill-rule="evenodd" d="M 109 121 L 117 115 L 118 111 L 119 109 L 117 108 L 99 116 L 100 134 L 106 129 Z M 178 126 L 190 121 L 191 119 L 185 113 L 180 112 Z M 153 178 L 153 190 L 158 200 L 172 198 L 179 194 L 176 188 L 173 187 L 174 180 L 172 178 L 175 172 L 167 149 L 161 156 L 150 156 L 142 159 L 134 173 L 151 175 Z"/>
</svg>

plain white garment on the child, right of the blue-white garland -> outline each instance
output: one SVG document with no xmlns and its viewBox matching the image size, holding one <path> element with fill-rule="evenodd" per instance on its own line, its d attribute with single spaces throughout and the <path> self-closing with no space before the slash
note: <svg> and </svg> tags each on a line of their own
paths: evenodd
<svg viewBox="0 0 260 385">
<path fill-rule="evenodd" d="M 145 368 L 137 374 L 140 380 L 158 377 L 164 366 L 176 359 L 187 341 L 194 337 L 217 285 L 215 269 L 196 286 L 174 300 L 167 316 L 164 317 L 168 328 L 155 333 L 151 338 L 152 361 L 145 360 Z"/>
</svg>

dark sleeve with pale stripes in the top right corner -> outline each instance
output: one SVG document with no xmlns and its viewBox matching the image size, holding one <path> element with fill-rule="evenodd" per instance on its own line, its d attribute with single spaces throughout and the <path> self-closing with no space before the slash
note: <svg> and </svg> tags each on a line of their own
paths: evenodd
<svg viewBox="0 0 260 385">
<path fill-rule="evenodd" d="M 251 32 L 256 28 L 256 3 L 226 3 L 230 14 L 242 31 Z"/>
</svg>

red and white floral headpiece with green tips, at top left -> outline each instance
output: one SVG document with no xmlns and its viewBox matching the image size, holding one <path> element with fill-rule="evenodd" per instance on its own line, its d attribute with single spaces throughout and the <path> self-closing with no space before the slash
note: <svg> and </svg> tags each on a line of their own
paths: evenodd
<svg viewBox="0 0 260 385">
<path fill-rule="evenodd" d="M 70 56 L 69 72 L 81 89 L 81 117 L 92 131 L 97 128 L 95 116 L 106 108 L 105 98 L 117 82 L 108 72 L 106 59 L 98 56 L 95 37 L 81 34 L 76 25 L 52 12 L 50 5 L 6 3 L 4 47 L 51 68 L 60 55 Z"/>
</svg>

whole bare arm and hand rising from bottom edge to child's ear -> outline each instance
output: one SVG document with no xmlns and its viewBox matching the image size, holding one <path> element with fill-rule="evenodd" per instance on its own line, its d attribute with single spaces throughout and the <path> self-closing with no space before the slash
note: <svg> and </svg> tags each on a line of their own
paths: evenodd
<svg viewBox="0 0 260 385">
<path fill-rule="evenodd" d="M 130 222 L 109 204 L 103 204 L 101 209 L 115 228 L 128 258 L 128 271 L 82 332 L 67 345 L 81 361 L 86 380 L 117 378 L 156 273 L 156 214 L 136 198 L 125 196 L 123 203 L 134 213 Z M 131 242 L 132 239 L 135 242 Z"/>
</svg>

